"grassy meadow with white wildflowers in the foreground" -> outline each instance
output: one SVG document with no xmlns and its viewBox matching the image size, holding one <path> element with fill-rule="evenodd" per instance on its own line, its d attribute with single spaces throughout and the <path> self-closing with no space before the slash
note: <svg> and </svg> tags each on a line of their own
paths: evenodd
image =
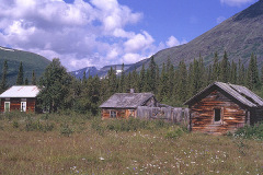
<svg viewBox="0 0 263 175">
<path fill-rule="evenodd" d="M 2 118 L 0 174 L 263 174 L 260 140 L 187 132 L 168 137 L 178 127 L 124 131 L 106 122 L 113 121 Z"/>
</svg>

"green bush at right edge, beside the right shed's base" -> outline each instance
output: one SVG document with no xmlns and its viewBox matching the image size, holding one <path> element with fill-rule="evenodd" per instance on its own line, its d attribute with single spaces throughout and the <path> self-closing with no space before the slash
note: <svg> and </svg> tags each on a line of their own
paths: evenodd
<svg viewBox="0 0 263 175">
<path fill-rule="evenodd" d="M 233 136 L 247 139 L 263 140 L 263 122 L 255 124 L 254 126 L 244 126 L 243 128 L 239 128 Z"/>
</svg>

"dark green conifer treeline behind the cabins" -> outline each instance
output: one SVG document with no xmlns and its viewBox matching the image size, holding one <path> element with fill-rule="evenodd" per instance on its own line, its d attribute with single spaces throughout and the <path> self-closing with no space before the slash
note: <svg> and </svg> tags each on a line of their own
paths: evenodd
<svg viewBox="0 0 263 175">
<path fill-rule="evenodd" d="M 8 88 L 8 66 L 5 65 L 4 61 L 1 90 Z M 159 102 L 171 106 L 182 106 L 183 102 L 214 81 L 245 85 L 255 92 L 261 92 L 262 71 L 263 69 L 260 73 L 256 57 L 253 54 L 249 67 L 245 68 L 241 60 L 230 62 L 225 51 L 221 59 L 216 52 L 214 62 L 209 66 L 205 66 L 203 58 L 199 57 L 188 67 L 182 60 L 176 68 L 168 59 L 159 69 L 155 58 L 151 57 L 148 67 L 142 66 L 140 70 L 135 69 L 133 72 L 125 73 L 123 65 L 121 74 L 116 74 L 115 68 L 111 68 L 103 79 L 84 72 L 83 78 L 78 80 L 67 72 L 59 59 L 54 59 L 38 82 L 35 80 L 34 72 L 32 73 L 31 83 L 38 84 L 43 90 L 38 96 L 42 108 L 50 112 L 75 110 L 96 115 L 99 105 L 111 95 L 117 92 L 127 93 L 130 89 L 135 92 L 152 92 Z M 23 81 L 23 68 L 20 68 L 16 84 L 26 84 L 26 81 Z"/>
</svg>

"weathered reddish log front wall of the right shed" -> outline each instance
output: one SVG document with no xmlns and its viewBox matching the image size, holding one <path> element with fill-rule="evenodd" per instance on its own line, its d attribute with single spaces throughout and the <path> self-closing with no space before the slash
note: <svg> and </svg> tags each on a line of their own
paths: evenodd
<svg viewBox="0 0 263 175">
<path fill-rule="evenodd" d="M 215 121 L 215 109 L 220 109 L 221 118 Z M 249 120 L 248 110 L 215 90 L 191 106 L 191 129 L 211 133 L 226 133 L 243 127 Z"/>
</svg>

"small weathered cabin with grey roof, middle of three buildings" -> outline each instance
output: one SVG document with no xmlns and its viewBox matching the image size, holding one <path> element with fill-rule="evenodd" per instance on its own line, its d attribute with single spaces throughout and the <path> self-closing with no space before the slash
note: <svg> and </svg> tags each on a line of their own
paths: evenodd
<svg viewBox="0 0 263 175">
<path fill-rule="evenodd" d="M 102 118 L 137 117 L 138 106 L 156 107 L 158 102 L 152 93 L 116 93 L 104 102 Z"/>
</svg>

